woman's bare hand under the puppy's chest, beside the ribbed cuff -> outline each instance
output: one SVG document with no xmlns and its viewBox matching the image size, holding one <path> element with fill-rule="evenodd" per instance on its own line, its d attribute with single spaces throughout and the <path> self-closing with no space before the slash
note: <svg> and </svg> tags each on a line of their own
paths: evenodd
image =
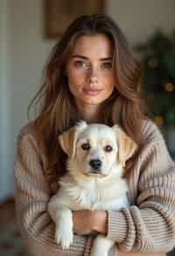
<svg viewBox="0 0 175 256">
<path fill-rule="evenodd" d="M 105 210 L 73 210 L 73 232 L 79 235 L 92 231 L 107 232 L 107 212 Z"/>
</svg>

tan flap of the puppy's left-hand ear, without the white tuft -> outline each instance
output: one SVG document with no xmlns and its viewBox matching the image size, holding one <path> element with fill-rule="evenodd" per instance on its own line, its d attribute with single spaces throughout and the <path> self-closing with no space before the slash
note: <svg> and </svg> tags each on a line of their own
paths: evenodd
<svg viewBox="0 0 175 256">
<path fill-rule="evenodd" d="M 59 135 L 59 144 L 70 158 L 74 157 L 76 140 L 77 132 L 75 127 L 72 127 L 68 131 Z"/>
</svg>

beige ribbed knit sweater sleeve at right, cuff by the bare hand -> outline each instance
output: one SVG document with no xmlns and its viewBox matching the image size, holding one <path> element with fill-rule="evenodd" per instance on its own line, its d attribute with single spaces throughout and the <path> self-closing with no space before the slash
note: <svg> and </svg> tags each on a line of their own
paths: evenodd
<svg viewBox="0 0 175 256">
<path fill-rule="evenodd" d="M 151 128 L 130 175 L 136 205 L 109 211 L 107 237 L 125 252 L 169 252 L 175 246 L 175 164 L 158 128 Z"/>
</svg>

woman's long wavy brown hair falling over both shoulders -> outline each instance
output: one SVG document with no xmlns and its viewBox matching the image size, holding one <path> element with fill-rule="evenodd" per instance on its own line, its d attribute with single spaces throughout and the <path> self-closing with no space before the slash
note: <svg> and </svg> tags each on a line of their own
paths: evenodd
<svg viewBox="0 0 175 256">
<path fill-rule="evenodd" d="M 63 174 L 65 158 L 58 146 L 58 135 L 75 124 L 80 116 L 73 102 L 65 75 L 66 61 L 78 38 L 83 35 L 105 34 L 113 48 L 113 68 L 116 89 L 102 103 L 101 123 L 120 124 L 137 142 L 143 143 L 141 122 L 145 118 L 144 100 L 140 93 L 140 65 L 133 57 L 123 32 L 106 15 L 83 15 L 76 18 L 53 47 L 45 65 L 43 84 L 31 101 L 31 106 L 41 103 L 34 125 L 39 140 L 44 142 L 45 156 L 51 173 Z M 29 116 L 28 116 L 29 117 Z"/>
</svg>

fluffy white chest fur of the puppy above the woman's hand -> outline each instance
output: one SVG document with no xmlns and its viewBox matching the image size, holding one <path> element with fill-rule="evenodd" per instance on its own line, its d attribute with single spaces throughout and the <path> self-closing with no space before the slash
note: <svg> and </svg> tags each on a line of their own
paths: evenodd
<svg viewBox="0 0 175 256">
<path fill-rule="evenodd" d="M 96 181 L 78 185 L 73 177 L 66 174 L 60 183 L 59 198 L 61 203 L 71 210 L 119 210 L 128 206 L 127 184 L 122 178 L 109 186 L 101 186 Z"/>
</svg>

